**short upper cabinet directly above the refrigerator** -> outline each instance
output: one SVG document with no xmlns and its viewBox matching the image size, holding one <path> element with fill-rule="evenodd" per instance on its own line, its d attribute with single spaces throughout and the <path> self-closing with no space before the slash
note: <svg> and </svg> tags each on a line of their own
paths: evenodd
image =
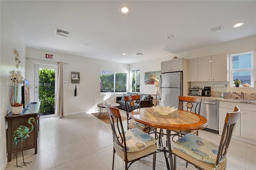
<svg viewBox="0 0 256 170">
<path fill-rule="evenodd" d="M 183 71 L 184 58 L 176 58 L 161 62 L 161 73 Z"/>
</svg>

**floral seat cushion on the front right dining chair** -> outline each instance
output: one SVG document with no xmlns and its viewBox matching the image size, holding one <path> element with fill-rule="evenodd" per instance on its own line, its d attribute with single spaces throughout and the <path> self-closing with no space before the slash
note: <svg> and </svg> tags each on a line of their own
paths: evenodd
<svg viewBox="0 0 256 170">
<path fill-rule="evenodd" d="M 206 163 L 215 164 L 219 146 L 210 140 L 186 134 L 174 142 L 174 147 Z M 224 159 L 220 162 L 222 163 Z"/>
</svg>

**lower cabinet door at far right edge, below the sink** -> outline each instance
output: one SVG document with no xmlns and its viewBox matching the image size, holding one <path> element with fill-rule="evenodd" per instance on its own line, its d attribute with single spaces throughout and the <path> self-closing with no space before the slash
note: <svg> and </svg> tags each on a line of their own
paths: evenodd
<svg viewBox="0 0 256 170">
<path fill-rule="evenodd" d="M 256 113 L 241 110 L 241 137 L 256 140 Z"/>
</svg>

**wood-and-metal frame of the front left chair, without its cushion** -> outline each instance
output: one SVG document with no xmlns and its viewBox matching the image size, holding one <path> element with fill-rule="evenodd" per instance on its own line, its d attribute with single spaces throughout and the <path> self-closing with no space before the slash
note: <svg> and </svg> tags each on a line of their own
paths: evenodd
<svg viewBox="0 0 256 170">
<path fill-rule="evenodd" d="M 113 142 L 116 142 L 116 144 L 118 144 L 118 146 L 122 147 L 122 150 L 124 150 L 124 156 L 123 156 L 123 160 L 125 161 L 125 170 L 128 170 L 128 168 L 130 167 L 130 165 L 137 161 L 140 160 L 141 158 L 144 158 L 146 156 L 150 156 L 153 154 L 153 170 L 155 170 L 155 166 L 156 166 L 156 151 L 150 153 L 150 154 L 146 154 L 144 156 L 141 156 L 140 158 L 136 158 L 134 160 L 128 160 L 127 159 L 127 149 L 126 149 L 126 139 L 125 139 L 125 133 L 124 133 L 124 128 L 122 125 L 122 119 L 120 116 L 120 112 L 119 109 L 116 107 L 110 107 L 106 104 L 105 102 L 105 106 L 106 109 L 108 111 L 109 114 L 109 119 L 110 119 L 110 125 L 112 128 L 112 133 L 113 133 Z M 116 123 L 114 122 L 114 119 L 116 119 Z M 114 157 L 115 157 L 115 153 L 116 150 L 113 146 L 113 162 L 112 162 L 112 170 L 114 169 Z M 140 151 L 138 151 L 140 152 Z M 130 163 L 130 164 L 128 164 Z"/>
</svg>

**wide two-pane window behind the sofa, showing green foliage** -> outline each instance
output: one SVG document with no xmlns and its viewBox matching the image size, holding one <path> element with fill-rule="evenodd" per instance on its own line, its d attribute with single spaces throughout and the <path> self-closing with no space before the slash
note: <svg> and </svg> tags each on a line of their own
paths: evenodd
<svg viewBox="0 0 256 170">
<path fill-rule="evenodd" d="M 100 92 L 126 92 L 127 73 L 100 71 Z"/>
</svg>

